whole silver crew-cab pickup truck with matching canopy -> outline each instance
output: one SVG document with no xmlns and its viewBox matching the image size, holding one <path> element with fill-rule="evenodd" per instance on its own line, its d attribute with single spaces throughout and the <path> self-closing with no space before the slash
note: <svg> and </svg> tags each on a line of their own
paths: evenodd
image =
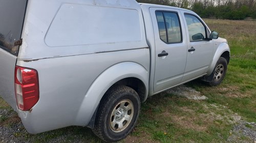
<svg viewBox="0 0 256 143">
<path fill-rule="evenodd" d="M 193 11 L 134 0 L 0 2 L 0 95 L 29 133 L 127 136 L 148 97 L 223 80 L 230 50 Z"/>
</svg>

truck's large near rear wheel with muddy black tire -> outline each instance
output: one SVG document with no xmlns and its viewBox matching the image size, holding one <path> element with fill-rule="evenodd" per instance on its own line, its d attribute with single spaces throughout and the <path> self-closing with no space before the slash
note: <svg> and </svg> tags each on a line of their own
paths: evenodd
<svg viewBox="0 0 256 143">
<path fill-rule="evenodd" d="M 140 99 L 134 89 L 112 87 L 101 100 L 93 132 L 106 142 L 123 139 L 135 127 L 139 111 Z"/>
</svg>

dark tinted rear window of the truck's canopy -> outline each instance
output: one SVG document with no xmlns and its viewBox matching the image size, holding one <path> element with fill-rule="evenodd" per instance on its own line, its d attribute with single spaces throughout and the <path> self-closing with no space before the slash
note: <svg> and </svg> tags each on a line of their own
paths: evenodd
<svg viewBox="0 0 256 143">
<path fill-rule="evenodd" d="M 27 0 L 0 1 L 0 48 L 17 56 Z"/>
</svg>

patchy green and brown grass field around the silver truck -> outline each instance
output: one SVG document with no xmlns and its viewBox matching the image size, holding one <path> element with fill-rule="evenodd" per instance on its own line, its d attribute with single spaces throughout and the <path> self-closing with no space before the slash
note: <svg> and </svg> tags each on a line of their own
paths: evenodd
<svg viewBox="0 0 256 143">
<path fill-rule="evenodd" d="M 256 21 L 204 19 L 211 30 L 228 40 L 231 58 L 223 83 L 210 87 L 200 80 L 186 84 L 208 100 L 196 101 L 158 94 L 142 104 L 135 130 L 120 142 L 227 142 L 239 121 L 256 122 Z M 0 99 L 0 109 L 10 109 Z M 2 116 L 0 125 L 15 122 Z M 248 128 L 250 125 L 247 125 Z M 247 127 L 246 126 L 246 127 Z M 24 130 L 24 129 L 21 129 Z M 255 130 L 255 129 L 253 129 Z M 83 127 L 67 127 L 37 135 L 16 132 L 31 142 L 102 142 Z M 240 141 L 252 141 L 239 135 Z"/>
</svg>

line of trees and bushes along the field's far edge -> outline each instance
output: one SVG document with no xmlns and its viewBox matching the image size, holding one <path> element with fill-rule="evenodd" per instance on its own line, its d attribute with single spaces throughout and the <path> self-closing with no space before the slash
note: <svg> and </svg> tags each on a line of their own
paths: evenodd
<svg viewBox="0 0 256 143">
<path fill-rule="evenodd" d="M 136 0 L 139 3 L 190 9 L 202 18 L 256 19 L 256 0 Z"/>
</svg>

